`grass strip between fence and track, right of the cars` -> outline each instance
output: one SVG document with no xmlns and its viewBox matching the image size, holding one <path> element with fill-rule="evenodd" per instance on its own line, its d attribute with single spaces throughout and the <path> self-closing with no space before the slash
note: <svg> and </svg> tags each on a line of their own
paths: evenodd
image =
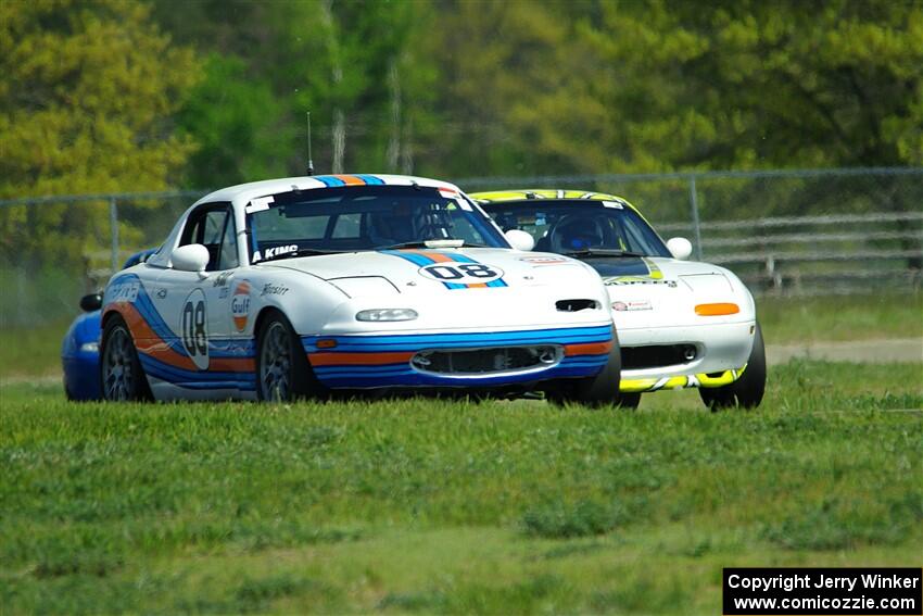
<svg viewBox="0 0 923 616">
<path fill-rule="evenodd" d="M 767 344 L 923 338 L 923 292 L 818 298 L 759 298 Z"/>
</svg>

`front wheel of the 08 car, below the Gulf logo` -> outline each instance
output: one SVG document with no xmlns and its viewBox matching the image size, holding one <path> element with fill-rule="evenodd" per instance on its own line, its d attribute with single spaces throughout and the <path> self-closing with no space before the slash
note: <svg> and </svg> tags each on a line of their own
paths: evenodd
<svg viewBox="0 0 923 616">
<path fill-rule="evenodd" d="M 301 338 L 282 313 L 273 311 L 260 324 L 256 336 L 256 398 L 292 402 L 324 393 Z"/>
</svg>

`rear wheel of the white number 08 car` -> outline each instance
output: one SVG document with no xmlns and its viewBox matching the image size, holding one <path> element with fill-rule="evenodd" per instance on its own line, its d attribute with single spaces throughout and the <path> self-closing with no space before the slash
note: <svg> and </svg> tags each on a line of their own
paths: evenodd
<svg viewBox="0 0 923 616">
<path fill-rule="evenodd" d="M 105 322 L 100 342 L 100 391 L 110 402 L 147 402 L 154 399 L 131 331 L 121 315 Z"/>
</svg>

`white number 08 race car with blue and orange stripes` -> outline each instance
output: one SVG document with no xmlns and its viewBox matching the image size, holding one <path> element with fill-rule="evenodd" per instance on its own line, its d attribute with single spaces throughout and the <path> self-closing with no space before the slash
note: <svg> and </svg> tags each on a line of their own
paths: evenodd
<svg viewBox="0 0 923 616">
<path fill-rule="evenodd" d="M 106 286 L 103 397 L 538 389 L 608 402 L 620 355 L 606 288 L 592 267 L 531 244 L 431 179 L 218 190 Z"/>
</svg>

